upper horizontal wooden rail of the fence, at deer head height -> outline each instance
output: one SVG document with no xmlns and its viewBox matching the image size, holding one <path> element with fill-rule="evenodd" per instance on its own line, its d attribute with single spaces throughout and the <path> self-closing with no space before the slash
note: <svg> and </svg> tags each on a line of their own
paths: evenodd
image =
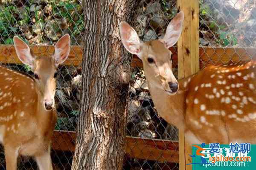
<svg viewBox="0 0 256 170">
<path fill-rule="evenodd" d="M 53 53 L 54 47 L 52 45 L 31 45 L 32 51 L 36 55 L 49 56 Z M 173 67 L 178 64 L 177 48 L 171 47 Z M 200 47 L 200 68 L 205 65 L 219 65 L 229 62 L 237 62 L 239 60 L 250 60 L 256 58 L 256 48 L 224 48 L 224 47 Z M 70 56 L 65 65 L 81 65 L 83 57 L 83 49 L 80 46 L 71 46 Z M 17 58 L 13 45 L 0 45 L 0 62 L 1 63 L 21 63 Z M 132 67 L 143 68 L 141 60 L 134 55 Z"/>
</svg>

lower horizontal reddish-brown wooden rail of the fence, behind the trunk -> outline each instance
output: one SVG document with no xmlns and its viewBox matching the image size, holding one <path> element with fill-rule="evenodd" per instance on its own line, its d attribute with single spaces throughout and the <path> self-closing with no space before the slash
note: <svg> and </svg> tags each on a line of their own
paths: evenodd
<svg viewBox="0 0 256 170">
<path fill-rule="evenodd" d="M 75 145 L 76 132 L 54 130 L 52 149 L 74 152 Z M 177 163 L 179 161 L 178 145 L 176 141 L 126 136 L 125 154 L 131 158 Z"/>
</svg>

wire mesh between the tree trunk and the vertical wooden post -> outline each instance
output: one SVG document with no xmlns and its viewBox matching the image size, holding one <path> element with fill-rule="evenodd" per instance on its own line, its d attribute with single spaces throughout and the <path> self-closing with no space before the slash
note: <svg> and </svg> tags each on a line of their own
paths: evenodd
<svg viewBox="0 0 256 170">
<path fill-rule="evenodd" d="M 133 20 L 134 29 L 140 37 L 140 40 L 149 41 L 156 40 L 164 36 L 166 27 L 172 18 L 177 14 L 176 0 L 142 0 L 138 6 L 136 15 Z M 176 52 L 177 52 L 177 48 Z M 137 60 L 136 60 L 137 61 Z M 132 80 L 129 88 L 128 102 L 128 119 L 127 119 L 127 135 L 140 137 L 143 139 L 141 143 L 134 144 L 131 150 L 140 153 L 140 158 L 134 159 L 125 156 L 124 170 L 175 170 L 178 169 L 178 163 L 175 160 L 167 160 L 163 155 L 157 155 L 154 152 L 150 153 L 150 146 L 147 146 L 148 139 L 151 146 L 157 148 L 161 153 L 163 148 L 159 143 L 162 143 L 165 148 L 167 145 L 175 145 L 178 140 L 177 128 L 169 125 L 162 119 L 154 106 L 148 91 L 148 84 L 145 79 L 141 63 L 135 62 L 132 68 Z M 173 62 L 173 72 L 177 77 L 177 58 Z M 158 140 L 155 140 L 158 139 Z M 168 140 L 168 141 L 166 141 Z M 144 150 L 143 150 L 143 149 Z M 148 155 L 145 154 L 148 150 Z M 177 150 L 177 147 L 174 147 Z M 168 150 L 169 155 L 172 155 L 173 150 Z M 154 155 L 155 154 L 155 155 Z M 168 153 L 167 153 L 168 154 Z M 148 158 L 148 159 L 147 159 Z M 150 160 L 154 159 L 154 160 Z M 161 160 L 161 161 L 155 161 Z"/>
</svg>

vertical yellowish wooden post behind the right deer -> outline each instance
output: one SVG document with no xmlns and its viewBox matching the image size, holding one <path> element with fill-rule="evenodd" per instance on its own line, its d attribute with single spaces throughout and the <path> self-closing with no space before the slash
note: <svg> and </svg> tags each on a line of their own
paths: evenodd
<svg viewBox="0 0 256 170">
<path fill-rule="evenodd" d="M 177 6 L 184 12 L 183 32 L 178 41 L 178 77 L 188 77 L 199 71 L 199 0 L 177 0 Z M 188 153 L 191 146 L 185 142 L 184 131 L 179 130 L 180 170 L 191 170 Z"/>
</svg>

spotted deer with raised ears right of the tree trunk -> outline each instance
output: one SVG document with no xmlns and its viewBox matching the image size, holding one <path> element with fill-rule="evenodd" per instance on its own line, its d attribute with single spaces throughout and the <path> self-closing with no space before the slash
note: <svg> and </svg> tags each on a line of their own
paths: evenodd
<svg viewBox="0 0 256 170">
<path fill-rule="evenodd" d="M 168 49 L 180 37 L 183 20 L 183 12 L 178 13 L 163 39 L 148 42 L 142 42 L 128 23 L 119 26 L 124 47 L 143 61 L 158 113 L 185 130 L 190 144 L 256 143 L 256 61 L 212 65 L 176 80 Z"/>
</svg>

